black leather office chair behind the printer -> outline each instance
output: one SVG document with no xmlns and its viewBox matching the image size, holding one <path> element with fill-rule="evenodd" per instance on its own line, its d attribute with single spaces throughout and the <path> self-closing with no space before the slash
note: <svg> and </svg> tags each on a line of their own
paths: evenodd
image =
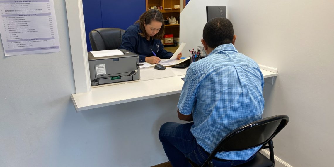
<svg viewBox="0 0 334 167">
<path fill-rule="evenodd" d="M 92 50 L 118 49 L 125 30 L 121 28 L 97 28 L 89 33 Z"/>
</svg>

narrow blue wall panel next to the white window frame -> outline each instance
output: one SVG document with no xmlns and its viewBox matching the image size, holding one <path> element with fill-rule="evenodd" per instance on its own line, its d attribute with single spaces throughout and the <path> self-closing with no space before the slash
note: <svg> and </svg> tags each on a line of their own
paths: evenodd
<svg viewBox="0 0 334 167">
<path fill-rule="evenodd" d="M 82 0 L 83 17 L 85 19 L 87 50 L 92 51 L 89 41 L 89 32 L 102 27 L 100 0 Z"/>
</svg>

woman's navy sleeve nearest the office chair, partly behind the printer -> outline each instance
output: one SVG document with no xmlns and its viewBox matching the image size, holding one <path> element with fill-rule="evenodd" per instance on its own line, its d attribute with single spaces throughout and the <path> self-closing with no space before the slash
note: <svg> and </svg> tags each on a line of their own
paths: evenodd
<svg viewBox="0 0 334 167">
<path fill-rule="evenodd" d="M 138 32 L 131 29 L 127 30 L 122 36 L 122 44 L 119 49 L 126 49 L 136 53 L 138 40 Z M 145 62 L 145 57 L 145 55 L 139 55 L 139 62 Z"/>
</svg>

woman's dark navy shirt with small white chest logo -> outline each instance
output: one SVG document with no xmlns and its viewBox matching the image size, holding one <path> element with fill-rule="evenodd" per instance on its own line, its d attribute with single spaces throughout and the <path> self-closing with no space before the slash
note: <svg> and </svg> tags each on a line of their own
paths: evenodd
<svg viewBox="0 0 334 167">
<path fill-rule="evenodd" d="M 139 55 L 139 61 L 145 62 L 146 56 L 154 56 L 152 51 L 159 58 L 170 58 L 173 53 L 164 49 L 164 45 L 160 39 L 152 39 L 148 41 L 145 37 L 141 37 L 138 33 L 139 24 L 131 25 L 122 36 L 122 44 L 119 49 L 127 49 Z"/>
</svg>

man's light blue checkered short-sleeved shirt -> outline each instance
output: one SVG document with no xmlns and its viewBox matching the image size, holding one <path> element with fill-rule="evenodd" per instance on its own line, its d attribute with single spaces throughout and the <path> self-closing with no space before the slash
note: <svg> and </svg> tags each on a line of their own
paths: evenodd
<svg viewBox="0 0 334 167">
<path fill-rule="evenodd" d="M 262 119 L 263 85 L 262 72 L 253 59 L 238 53 L 232 44 L 220 45 L 207 57 L 191 63 L 177 107 L 181 114 L 193 114 L 191 133 L 211 153 L 229 132 Z M 260 147 L 215 156 L 247 160 Z"/>
</svg>

